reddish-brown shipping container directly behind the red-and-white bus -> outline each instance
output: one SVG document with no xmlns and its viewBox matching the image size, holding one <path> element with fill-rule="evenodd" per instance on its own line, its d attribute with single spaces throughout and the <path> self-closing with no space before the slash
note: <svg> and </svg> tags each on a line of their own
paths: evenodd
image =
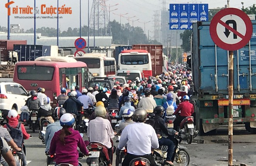
<svg viewBox="0 0 256 166">
<path fill-rule="evenodd" d="M 163 71 L 163 45 L 134 44 L 132 49 L 146 50 L 151 54 L 152 75 L 160 75 Z"/>
</svg>

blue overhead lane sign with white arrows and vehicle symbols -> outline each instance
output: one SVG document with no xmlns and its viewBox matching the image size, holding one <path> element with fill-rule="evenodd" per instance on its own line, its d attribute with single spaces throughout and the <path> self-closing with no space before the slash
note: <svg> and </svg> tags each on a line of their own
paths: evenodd
<svg viewBox="0 0 256 166">
<path fill-rule="evenodd" d="M 170 30 L 192 29 L 192 23 L 208 20 L 208 4 L 170 4 Z"/>
</svg>

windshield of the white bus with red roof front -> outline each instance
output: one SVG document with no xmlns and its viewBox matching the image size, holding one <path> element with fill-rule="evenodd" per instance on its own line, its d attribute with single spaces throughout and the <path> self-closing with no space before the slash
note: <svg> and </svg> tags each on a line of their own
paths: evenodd
<svg viewBox="0 0 256 166">
<path fill-rule="evenodd" d="M 148 55 L 122 55 L 121 64 L 148 64 Z"/>
</svg>

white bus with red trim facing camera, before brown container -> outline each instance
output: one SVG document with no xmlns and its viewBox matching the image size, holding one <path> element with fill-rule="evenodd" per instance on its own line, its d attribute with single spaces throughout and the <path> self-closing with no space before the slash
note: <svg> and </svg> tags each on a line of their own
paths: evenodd
<svg viewBox="0 0 256 166">
<path fill-rule="evenodd" d="M 145 77 L 152 76 L 151 55 L 146 50 L 124 50 L 119 54 L 120 70 L 139 70 Z"/>
</svg>

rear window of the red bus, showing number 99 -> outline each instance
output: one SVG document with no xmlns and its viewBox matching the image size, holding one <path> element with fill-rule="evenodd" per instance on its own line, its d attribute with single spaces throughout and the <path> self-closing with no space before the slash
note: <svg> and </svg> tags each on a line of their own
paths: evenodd
<svg viewBox="0 0 256 166">
<path fill-rule="evenodd" d="M 51 81 L 54 74 L 54 68 L 46 66 L 18 66 L 17 71 L 19 80 Z"/>
</svg>

